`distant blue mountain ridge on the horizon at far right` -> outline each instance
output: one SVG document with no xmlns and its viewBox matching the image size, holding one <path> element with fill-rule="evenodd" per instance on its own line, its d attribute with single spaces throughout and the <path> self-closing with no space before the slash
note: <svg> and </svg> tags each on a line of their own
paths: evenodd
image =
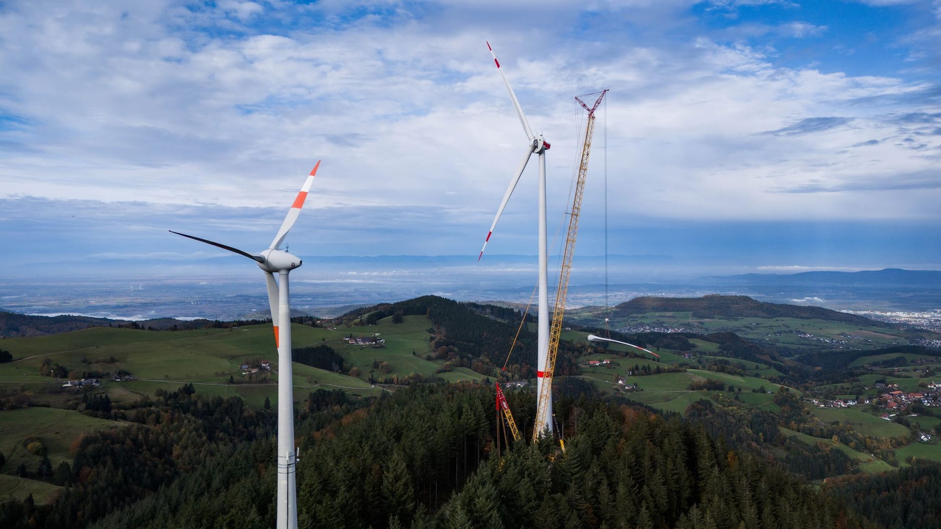
<svg viewBox="0 0 941 529">
<path fill-rule="evenodd" d="M 711 280 L 731 280 L 760 285 L 839 284 L 839 285 L 899 285 L 941 288 L 941 271 L 884 268 L 859 272 L 814 271 L 797 274 L 742 274 L 713 277 Z"/>
</svg>

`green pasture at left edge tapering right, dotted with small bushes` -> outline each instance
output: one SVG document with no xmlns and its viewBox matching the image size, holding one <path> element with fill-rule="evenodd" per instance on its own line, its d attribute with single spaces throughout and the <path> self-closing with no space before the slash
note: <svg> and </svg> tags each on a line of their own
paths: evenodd
<svg viewBox="0 0 941 529">
<path fill-rule="evenodd" d="M 23 441 L 34 437 L 46 447 L 55 470 L 62 461 L 72 461 L 69 447 L 83 433 L 127 425 L 88 417 L 72 409 L 22 408 L 0 411 L 0 451 L 7 457 L 3 473 L 13 473 L 20 463 L 35 471 L 41 457 L 28 450 Z"/>
</svg>

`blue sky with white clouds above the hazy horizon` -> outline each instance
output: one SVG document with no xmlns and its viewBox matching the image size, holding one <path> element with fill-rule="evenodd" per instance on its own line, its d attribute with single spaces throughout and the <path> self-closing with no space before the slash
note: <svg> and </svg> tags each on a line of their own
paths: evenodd
<svg viewBox="0 0 941 529">
<path fill-rule="evenodd" d="M 609 88 L 577 254 L 941 269 L 938 0 L 14 0 L 0 276 L 257 273 L 167 230 L 266 248 L 317 160 L 293 253 L 476 265 L 527 143 L 486 41 L 551 144 L 554 251 L 573 96 Z M 487 254 L 535 254 L 536 180 Z"/>
</svg>

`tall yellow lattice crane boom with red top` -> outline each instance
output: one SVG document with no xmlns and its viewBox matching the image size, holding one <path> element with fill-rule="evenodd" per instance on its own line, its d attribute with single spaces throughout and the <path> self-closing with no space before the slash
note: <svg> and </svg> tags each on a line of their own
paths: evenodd
<svg viewBox="0 0 941 529">
<path fill-rule="evenodd" d="M 572 269 L 572 257 L 575 255 L 575 238 L 579 232 L 579 215 L 582 212 L 582 194 L 585 187 L 585 176 L 588 174 L 588 155 L 591 152 L 591 139 L 595 133 L 595 110 L 598 104 L 604 98 L 608 90 L 602 90 L 601 95 L 595 104 L 589 108 L 578 97 L 575 101 L 582 104 L 582 108 L 588 111 L 588 121 L 585 124 L 585 137 L 582 142 L 582 161 L 579 164 L 578 180 L 575 184 L 575 198 L 572 200 L 572 211 L 568 217 L 568 232 L 566 234 L 566 249 L 562 254 L 562 265 L 559 269 L 559 285 L 555 290 L 555 308 L 552 311 L 552 323 L 549 329 L 549 351 L 546 358 L 546 371 L 543 377 L 542 391 L 539 392 L 539 401 L 536 406 L 536 422 L 533 430 L 533 441 L 539 440 L 539 435 L 546 428 L 545 424 L 540 424 L 540 417 L 546 417 L 546 409 L 549 408 L 550 396 L 552 394 L 552 374 L 555 372 L 555 357 L 559 352 L 559 339 L 562 336 L 562 317 L 566 313 L 566 297 L 568 296 L 568 277 Z"/>
</svg>

